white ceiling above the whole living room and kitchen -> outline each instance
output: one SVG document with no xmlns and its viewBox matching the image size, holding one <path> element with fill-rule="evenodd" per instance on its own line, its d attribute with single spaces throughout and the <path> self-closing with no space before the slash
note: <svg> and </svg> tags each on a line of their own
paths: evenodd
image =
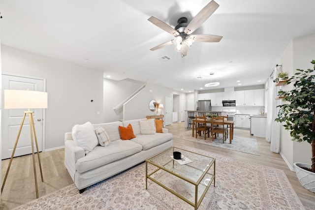
<svg viewBox="0 0 315 210">
<path fill-rule="evenodd" d="M 193 34 L 221 35 L 220 42 L 194 43 L 184 58 L 173 45 L 149 50 L 173 39 L 150 16 L 175 27 L 209 1 L 0 0 L 1 44 L 99 69 L 114 80 L 188 92 L 211 81 L 221 83 L 212 89 L 238 86 L 237 80 L 264 84 L 287 43 L 315 32 L 315 0 L 216 0 L 220 7 Z"/>
</svg>

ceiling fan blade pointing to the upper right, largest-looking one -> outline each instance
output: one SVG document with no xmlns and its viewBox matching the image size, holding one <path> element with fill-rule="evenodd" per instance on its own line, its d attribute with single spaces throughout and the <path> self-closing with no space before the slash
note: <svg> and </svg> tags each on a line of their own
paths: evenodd
<svg viewBox="0 0 315 210">
<path fill-rule="evenodd" d="M 203 7 L 200 12 L 190 21 L 186 29 L 185 33 L 190 34 L 194 30 L 198 29 L 198 27 L 205 22 L 219 7 L 220 5 L 212 0 L 205 7 Z"/>
</svg>

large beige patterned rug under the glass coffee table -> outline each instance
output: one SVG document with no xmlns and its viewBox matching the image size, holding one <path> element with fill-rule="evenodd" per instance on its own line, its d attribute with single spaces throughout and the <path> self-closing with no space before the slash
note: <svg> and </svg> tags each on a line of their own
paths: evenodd
<svg viewBox="0 0 315 210">
<path fill-rule="evenodd" d="M 282 170 L 187 146 L 176 147 L 216 158 L 216 186 L 210 186 L 198 210 L 303 209 Z M 188 193 L 185 183 L 174 184 L 179 192 Z M 193 210 L 193 207 L 151 180 L 146 190 L 142 163 L 88 187 L 82 194 L 71 184 L 16 209 Z"/>
</svg>

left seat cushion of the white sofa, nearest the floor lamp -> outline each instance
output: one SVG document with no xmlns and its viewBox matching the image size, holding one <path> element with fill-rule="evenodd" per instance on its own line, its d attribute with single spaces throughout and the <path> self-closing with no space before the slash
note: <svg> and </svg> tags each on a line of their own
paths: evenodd
<svg viewBox="0 0 315 210">
<path fill-rule="evenodd" d="M 107 147 L 95 147 L 94 150 L 85 157 L 81 157 L 77 160 L 75 168 L 78 172 L 83 173 L 130 156 L 141 150 L 141 145 L 132 141 L 117 140 L 111 142 Z"/>
</svg>

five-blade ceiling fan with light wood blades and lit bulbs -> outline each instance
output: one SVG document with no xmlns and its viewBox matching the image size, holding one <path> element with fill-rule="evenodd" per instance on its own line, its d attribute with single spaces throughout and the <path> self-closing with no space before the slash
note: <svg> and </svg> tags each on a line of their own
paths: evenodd
<svg viewBox="0 0 315 210">
<path fill-rule="evenodd" d="M 188 48 L 193 44 L 193 42 L 220 42 L 222 36 L 210 34 L 191 34 L 201 24 L 203 24 L 218 9 L 218 7 L 219 4 L 216 1 L 210 1 L 199 11 L 199 13 L 190 21 L 190 23 L 187 23 L 186 17 L 181 17 L 178 19 L 178 25 L 175 27 L 175 29 L 158 18 L 151 16 L 148 21 L 156 25 L 158 28 L 174 35 L 175 38 L 168 42 L 159 44 L 150 50 L 155 51 L 174 43 L 176 45 L 176 50 L 181 52 L 181 56 L 183 58 L 187 56 Z"/>
</svg>

